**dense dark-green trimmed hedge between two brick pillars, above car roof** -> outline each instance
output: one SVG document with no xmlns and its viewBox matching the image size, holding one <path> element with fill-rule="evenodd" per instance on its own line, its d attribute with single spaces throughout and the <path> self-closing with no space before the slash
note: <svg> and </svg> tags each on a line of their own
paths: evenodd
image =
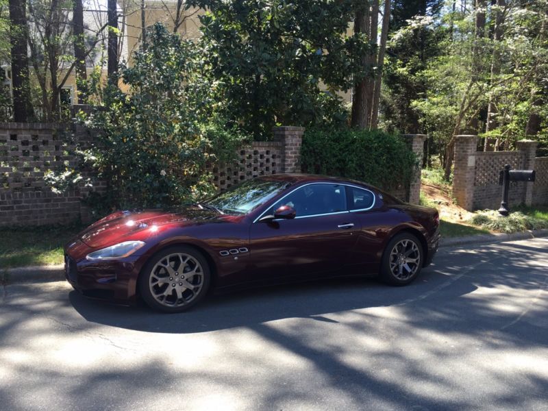
<svg viewBox="0 0 548 411">
<path fill-rule="evenodd" d="M 309 129 L 303 136 L 305 173 L 358 179 L 390 190 L 408 184 L 416 166 L 414 153 L 397 134 L 339 128 Z"/>
</svg>

